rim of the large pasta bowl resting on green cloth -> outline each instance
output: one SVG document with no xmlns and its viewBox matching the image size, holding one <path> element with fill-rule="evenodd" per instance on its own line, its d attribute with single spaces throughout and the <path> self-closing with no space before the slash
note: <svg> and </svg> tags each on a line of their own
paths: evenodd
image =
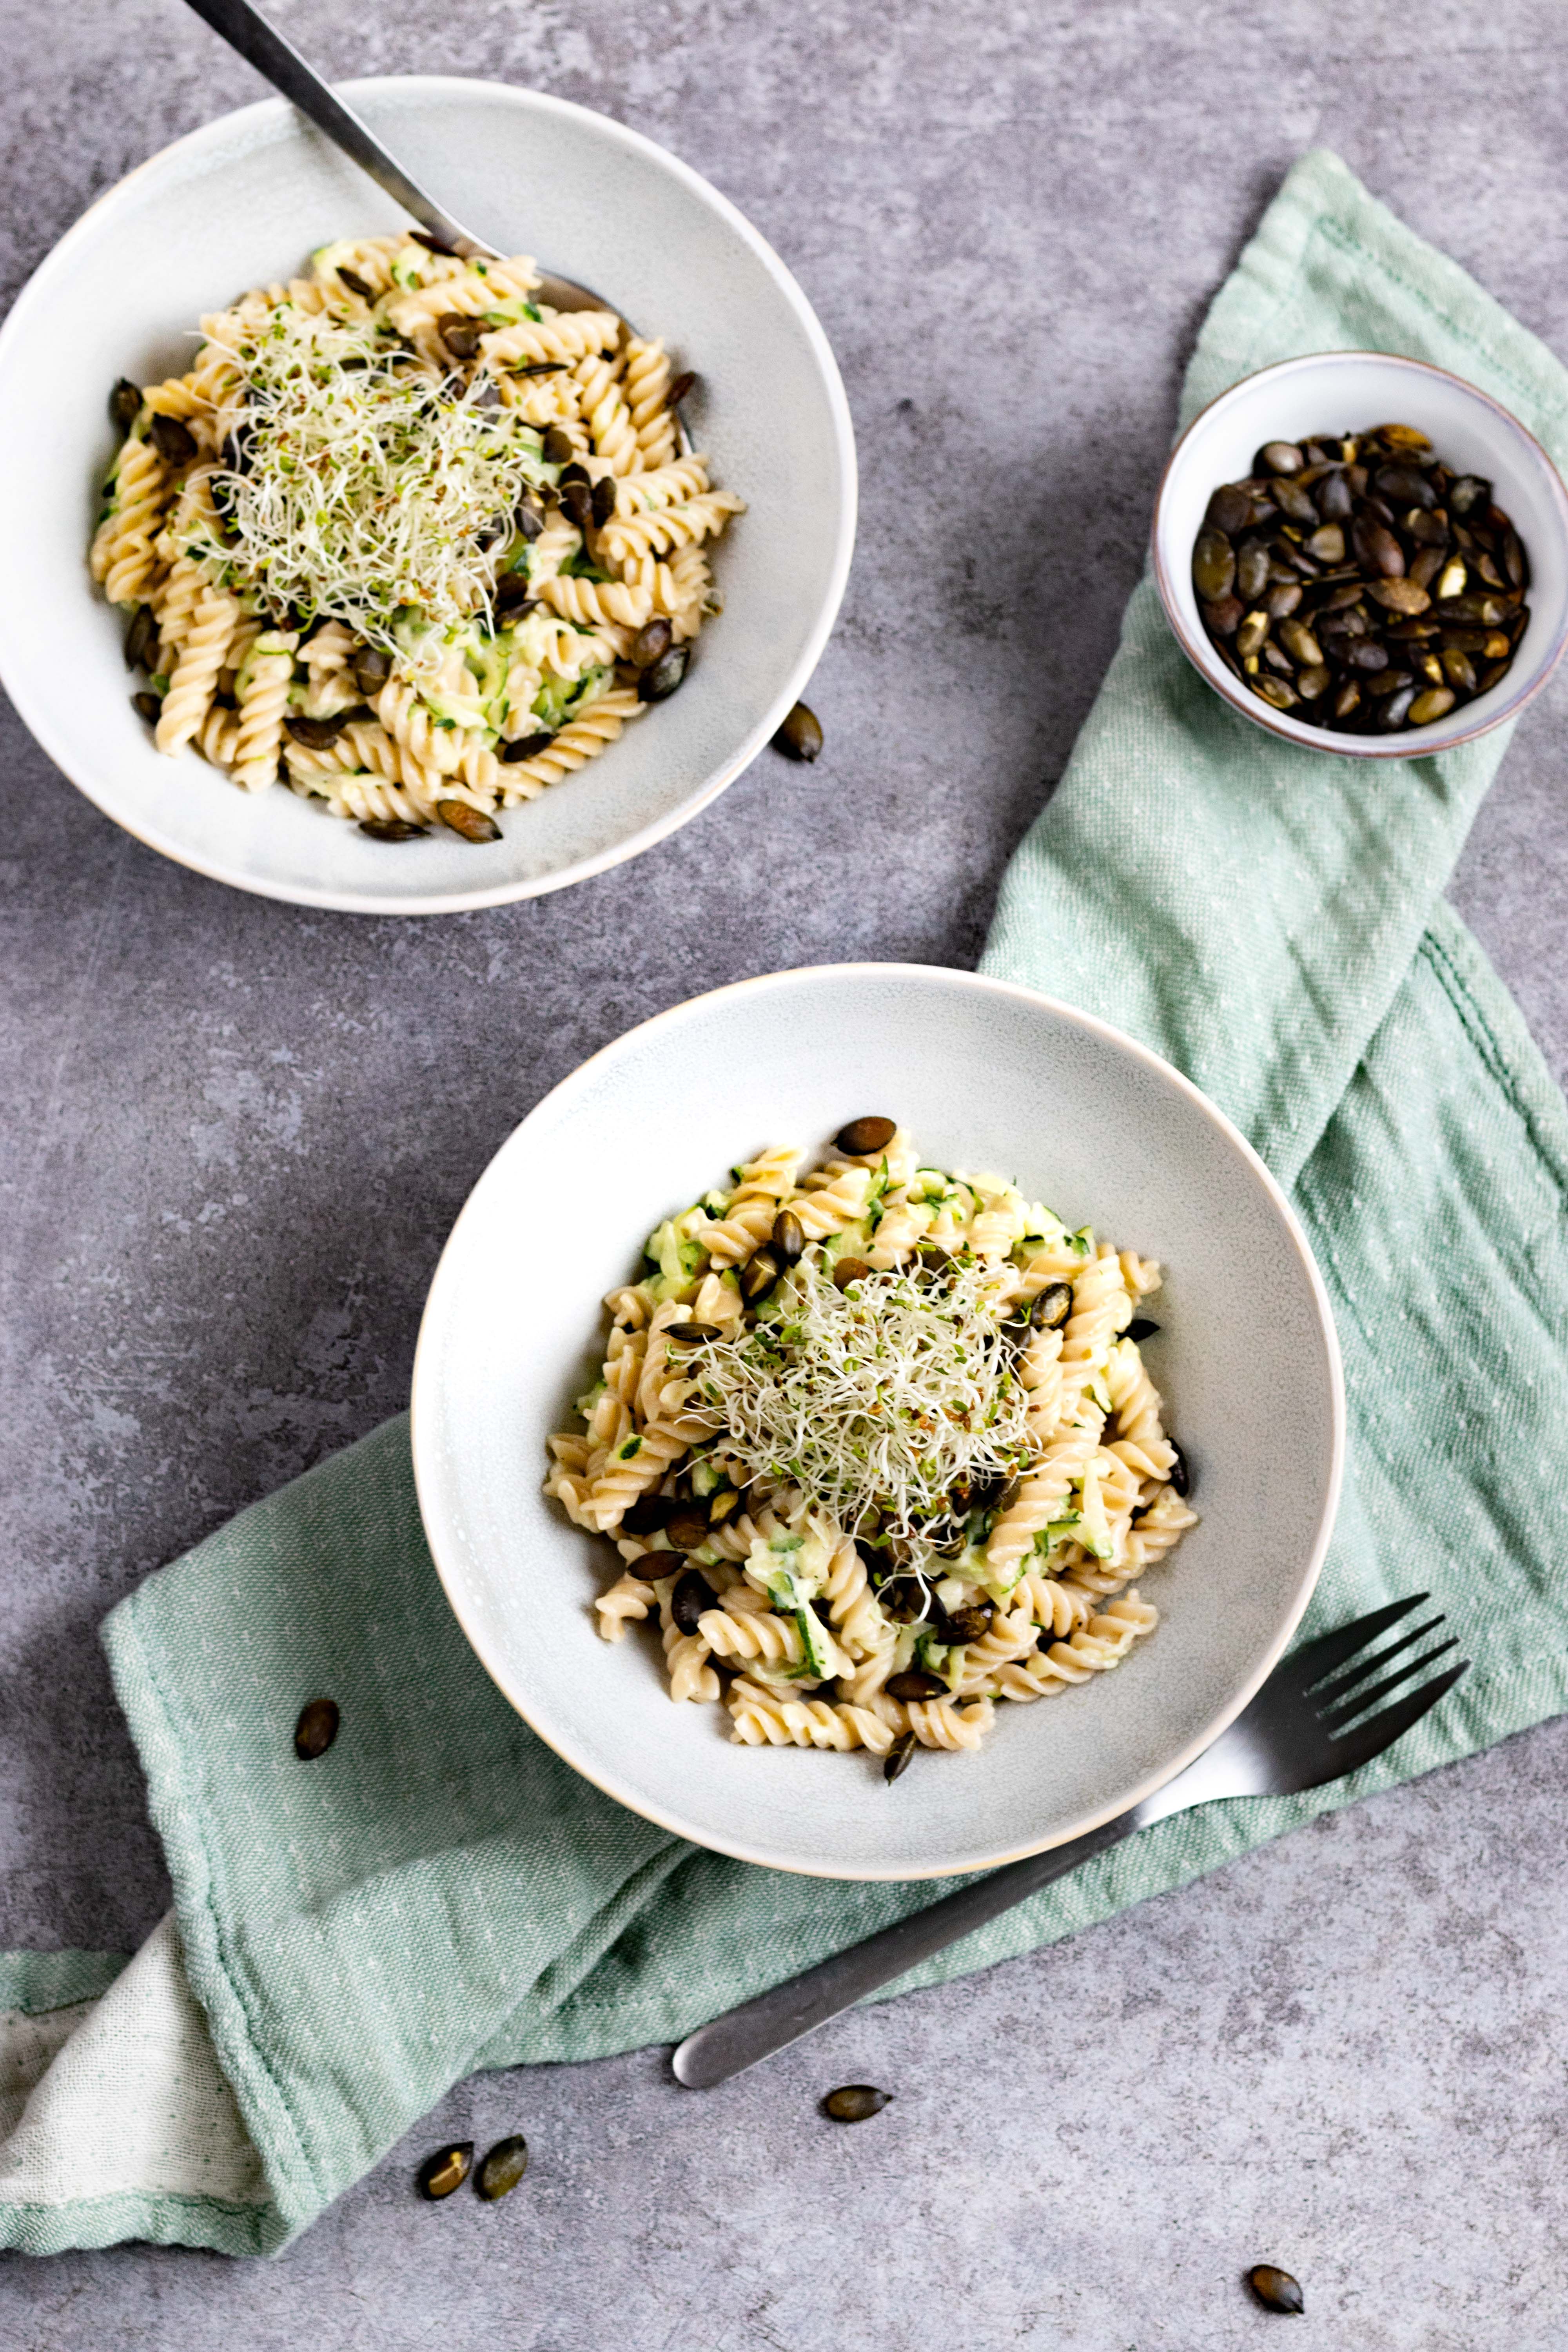
<svg viewBox="0 0 1568 2352">
<path fill-rule="evenodd" d="M 480 1646 L 475 1628 L 470 1625 L 463 1611 L 458 1592 L 461 1578 L 456 1571 L 449 1571 L 447 1564 L 442 1562 L 442 1531 L 440 1531 L 442 1470 L 440 1470 L 440 1449 L 433 1437 L 433 1425 L 435 1425 L 433 1390 L 437 1378 L 435 1369 L 437 1317 L 442 1317 L 444 1312 L 447 1289 L 458 1279 L 456 1263 L 458 1263 L 458 1251 L 463 1249 L 463 1225 L 465 1221 L 473 1218 L 480 1190 L 491 1183 L 496 1169 L 508 1157 L 508 1152 L 512 1152 L 520 1136 L 529 1129 L 534 1120 L 538 1120 L 552 1105 L 559 1105 L 562 1098 L 569 1098 L 571 1094 L 588 1087 L 592 1082 L 590 1073 L 597 1073 L 599 1065 L 607 1063 L 611 1056 L 630 1051 L 632 1040 L 646 1040 L 649 1033 L 654 1030 L 677 1028 L 682 1021 L 693 1018 L 701 1007 L 710 1007 L 724 997 L 738 997 L 757 990 L 783 993 L 797 985 L 818 985 L 825 978 L 886 981 L 886 978 L 898 978 L 900 974 L 922 981 L 936 978 L 954 990 L 973 990 L 976 995 L 1011 997 L 1016 1002 L 1037 1007 L 1060 1021 L 1074 1023 L 1077 1028 L 1095 1037 L 1100 1044 L 1107 1044 L 1114 1051 L 1131 1056 L 1145 1070 L 1152 1070 L 1154 1075 L 1168 1080 L 1178 1089 L 1178 1094 L 1182 1094 L 1201 1112 L 1201 1117 L 1220 1134 L 1220 1138 L 1232 1145 L 1232 1150 L 1241 1157 L 1253 1178 L 1262 1185 L 1279 1223 L 1284 1225 L 1291 1249 L 1295 1251 L 1300 1268 L 1307 1277 L 1328 1369 L 1328 1479 L 1324 1486 L 1324 1503 L 1319 1510 L 1319 1522 L 1314 1529 L 1312 1545 L 1307 1550 L 1307 1559 L 1295 1578 L 1295 1588 L 1281 1613 L 1279 1630 L 1269 1639 L 1265 1656 L 1258 1661 L 1246 1682 L 1239 1684 L 1232 1698 L 1227 1698 L 1215 1710 L 1211 1722 L 1168 1764 L 1159 1766 L 1154 1773 L 1147 1773 L 1133 1788 L 1117 1790 L 1105 1804 L 1091 1806 L 1086 1813 L 1081 1813 L 1077 1820 L 1070 1820 L 1063 1830 L 1053 1832 L 1051 1837 L 1041 1837 L 1023 1846 L 978 1851 L 959 1860 L 947 1858 L 943 1863 L 931 1863 L 929 1867 L 922 1870 L 910 1870 L 907 1865 L 889 1870 L 872 1870 L 872 1867 L 832 1870 L 825 1865 L 799 1860 L 797 1856 L 771 1853 L 766 1849 L 750 1844 L 745 1837 L 738 1835 L 717 1839 L 710 1828 L 705 1828 L 698 1835 L 698 1830 L 689 1820 L 684 1820 L 679 1811 L 649 1802 L 644 1795 L 621 1785 L 614 1776 L 607 1776 L 604 1771 L 590 1771 L 588 1764 L 574 1752 L 574 1743 L 569 1738 L 567 1740 L 557 1738 L 552 1729 L 548 1729 L 545 1722 L 538 1719 L 538 1700 L 534 1700 L 534 1708 L 524 1705 L 515 1696 L 515 1691 L 505 1686 L 496 1668 L 491 1668 L 489 1658 L 484 1656 L 484 1649 Z M 1086 1014 L 1074 1004 L 1065 1004 L 1060 997 L 1048 997 L 1039 988 L 1025 988 L 1020 981 L 992 978 L 985 971 L 966 971 L 952 964 L 907 964 L 907 962 L 797 964 L 788 971 L 766 971 L 748 981 L 731 981 L 724 988 L 710 988 L 701 997 L 686 997 L 682 1004 L 670 1004 L 661 1014 L 651 1014 L 651 1018 L 639 1021 L 630 1030 L 623 1030 L 621 1037 L 614 1037 L 609 1040 L 609 1044 L 602 1044 L 597 1054 L 590 1054 L 588 1061 L 578 1063 L 576 1070 L 571 1070 L 545 1096 L 541 1096 L 541 1101 L 534 1103 L 534 1108 L 517 1122 L 510 1136 L 496 1148 L 487 1167 L 480 1171 L 468 1200 L 458 1209 L 458 1216 L 451 1225 L 451 1232 L 447 1235 L 447 1242 L 442 1244 L 442 1254 L 430 1277 L 425 1308 L 418 1322 L 418 1341 L 414 1348 L 414 1374 L 409 1383 L 409 1451 L 414 1461 L 414 1491 L 418 1496 L 418 1515 L 425 1529 L 425 1541 L 430 1545 L 430 1559 L 435 1562 L 435 1573 L 440 1576 L 447 1604 L 451 1606 L 451 1613 L 458 1621 L 463 1639 L 468 1642 L 475 1658 L 491 1677 L 505 1703 L 517 1715 L 522 1715 L 524 1724 L 529 1724 L 529 1729 L 548 1748 L 552 1748 L 555 1755 L 562 1757 L 562 1762 L 567 1762 L 576 1773 L 590 1780 L 602 1795 L 611 1797 L 616 1804 L 623 1804 L 628 1811 L 639 1813 L 644 1820 L 654 1820 L 658 1828 L 670 1830 L 675 1837 L 684 1837 L 693 1846 L 701 1846 L 710 1853 L 726 1853 L 741 1863 L 755 1863 L 762 1870 L 788 1870 L 797 1877 L 846 1879 L 846 1882 L 938 1879 L 938 1877 L 954 1877 L 969 1870 L 994 1870 L 1001 1863 L 1025 1860 L 1030 1853 L 1046 1853 L 1051 1846 L 1070 1844 L 1074 1837 L 1084 1837 L 1088 1830 L 1098 1830 L 1103 1823 L 1117 1820 L 1121 1813 L 1131 1811 L 1135 1804 L 1143 1804 L 1145 1797 L 1152 1797 L 1159 1788 L 1173 1780 L 1175 1773 L 1185 1771 L 1187 1764 L 1192 1764 L 1199 1755 L 1204 1755 L 1204 1750 L 1211 1748 L 1213 1740 L 1218 1740 L 1218 1736 L 1251 1703 L 1262 1682 L 1274 1672 L 1274 1665 L 1279 1663 L 1286 1642 L 1300 1625 L 1307 1602 L 1316 1590 L 1316 1581 L 1324 1569 L 1324 1557 L 1333 1538 L 1340 1508 L 1340 1484 L 1345 1475 L 1345 1369 L 1340 1362 L 1340 1341 L 1333 1322 L 1333 1308 L 1328 1303 L 1328 1291 L 1324 1287 L 1324 1277 L 1319 1272 L 1316 1258 L 1312 1256 L 1312 1247 L 1300 1225 L 1300 1218 L 1295 1216 L 1295 1209 L 1286 1200 L 1284 1188 L 1269 1174 L 1269 1169 L 1258 1157 L 1253 1145 L 1246 1141 L 1241 1129 L 1225 1117 L 1218 1103 L 1213 1103 L 1199 1087 L 1194 1087 L 1192 1080 L 1185 1077 L 1173 1063 L 1154 1054 L 1152 1047 L 1140 1044 L 1135 1037 L 1128 1037 L 1126 1030 L 1112 1028 L 1110 1021 L 1100 1021 L 1095 1014 Z"/>
</svg>

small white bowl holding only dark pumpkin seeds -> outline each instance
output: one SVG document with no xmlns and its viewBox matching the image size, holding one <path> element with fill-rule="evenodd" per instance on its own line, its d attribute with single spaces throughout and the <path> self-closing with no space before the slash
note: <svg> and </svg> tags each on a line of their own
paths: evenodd
<svg viewBox="0 0 1568 2352">
<path fill-rule="evenodd" d="M 1514 520 L 1530 557 L 1530 623 L 1514 666 L 1490 694 L 1450 710 L 1432 727 L 1392 736 L 1333 734 L 1305 727 L 1225 668 L 1199 614 L 1192 543 L 1220 482 L 1239 482 L 1269 440 L 1312 433 L 1363 433 L 1403 423 L 1425 433 L 1455 473 L 1481 473 Z M 1314 350 L 1244 376 L 1192 419 L 1166 463 L 1154 499 L 1154 581 L 1166 619 L 1194 670 L 1232 710 L 1286 743 L 1342 753 L 1349 760 L 1420 760 L 1502 727 L 1540 694 L 1568 647 L 1568 492 L 1533 433 L 1488 393 L 1425 360 L 1387 350 Z"/>
</svg>

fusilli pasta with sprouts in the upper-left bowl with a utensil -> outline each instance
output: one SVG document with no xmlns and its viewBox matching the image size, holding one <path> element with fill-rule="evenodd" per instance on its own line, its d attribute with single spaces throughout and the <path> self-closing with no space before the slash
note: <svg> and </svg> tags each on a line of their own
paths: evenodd
<svg viewBox="0 0 1568 2352">
<path fill-rule="evenodd" d="M 743 510 L 684 449 L 663 343 L 527 259 L 324 245 L 120 383 L 92 576 L 158 748 L 383 840 L 496 814 L 679 687 Z"/>
</svg>

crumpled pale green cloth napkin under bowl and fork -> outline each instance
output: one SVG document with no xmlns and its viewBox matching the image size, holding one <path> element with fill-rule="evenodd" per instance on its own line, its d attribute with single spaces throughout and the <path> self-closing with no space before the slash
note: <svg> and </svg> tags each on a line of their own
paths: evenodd
<svg viewBox="0 0 1568 2352">
<path fill-rule="evenodd" d="M 1453 367 L 1568 461 L 1556 360 L 1309 155 L 1208 315 L 1182 416 L 1326 346 Z M 1568 1705 L 1568 1117 L 1439 896 L 1502 748 L 1368 769 L 1272 743 L 1187 668 L 1147 581 L 1131 602 L 987 969 L 1157 1047 L 1293 1190 L 1352 1416 L 1309 1630 L 1429 1585 L 1474 1672 L 1352 1783 L 1145 1830 L 907 1983 L 1065 1936 Z M 752 1870 L 578 1780 L 458 1635 L 402 1423 L 153 1576 L 106 1639 L 179 1943 L 165 1924 L 108 1992 L 87 1955 L 0 1971 L 33 2037 L 16 2079 L 38 2082 L 0 2152 L 12 2246 L 275 2251 L 468 2070 L 675 2039 L 940 1891 Z M 289 1729 L 322 1691 L 343 1731 L 301 1769 Z M 132 2105 L 139 2152 L 94 2169 L 87 2143 Z"/>
</svg>

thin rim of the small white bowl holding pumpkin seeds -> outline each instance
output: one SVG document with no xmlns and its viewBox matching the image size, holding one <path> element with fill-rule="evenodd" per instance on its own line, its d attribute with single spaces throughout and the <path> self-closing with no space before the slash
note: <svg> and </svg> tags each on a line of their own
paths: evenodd
<svg viewBox="0 0 1568 2352">
<path fill-rule="evenodd" d="M 1204 423 L 1204 419 L 1213 409 L 1222 407 L 1227 400 L 1234 400 L 1237 393 L 1244 393 L 1248 386 L 1260 383 L 1265 376 L 1286 376 L 1293 374 L 1295 369 L 1324 367 L 1340 360 L 1380 360 L 1385 367 L 1408 367 L 1410 374 L 1415 376 L 1439 376 L 1446 383 L 1458 383 L 1462 393 L 1476 400 L 1483 409 L 1490 409 L 1493 416 L 1502 419 L 1502 423 L 1509 426 L 1514 433 L 1519 433 L 1519 437 L 1528 442 L 1528 447 L 1540 459 L 1549 482 L 1552 499 L 1556 503 L 1559 536 L 1568 548 L 1568 489 L 1563 487 L 1563 477 L 1556 470 L 1552 456 L 1530 433 L 1530 428 L 1519 416 L 1514 416 L 1509 407 L 1505 407 L 1500 400 L 1493 400 L 1490 393 L 1483 393 L 1479 383 L 1469 381 L 1469 376 L 1458 376 L 1450 367 L 1434 367 L 1432 360 L 1410 360 L 1401 350 L 1302 350 L 1291 360 L 1272 360 L 1269 367 L 1253 367 L 1246 376 L 1237 376 L 1237 381 L 1227 383 L 1222 393 L 1215 393 L 1213 400 L 1204 402 L 1192 423 L 1175 440 L 1171 456 L 1166 459 L 1164 470 L 1159 475 L 1159 489 L 1154 492 L 1154 515 L 1150 520 L 1150 553 L 1154 560 L 1154 586 L 1159 588 L 1159 602 L 1164 604 L 1166 621 L 1171 623 L 1175 642 L 1180 644 L 1192 668 L 1199 673 L 1199 677 L 1206 680 L 1206 684 L 1215 689 L 1215 694 L 1220 694 L 1229 703 L 1232 710 L 1239 710 L 1244 720 L 1251 720 L 1253 727 L 1262 727 L 1281 743 L 1298 743 L 1302 750 L 1326 753 L 1328 757 L 1425 760 L 1443 750 L 1455 750 L 1460 743 L 1474 743 L 1479 736 L 1490 734 L 1493 727 L 1502 727 L 1505 720 L 1519 717 L 1526 703 L 1535 701 L 1535 696 L 1542 691 L 1542 687 L 1556 670 L 1559 661 L 1568 652 L 1568 604 L 1563 607 L 1563 619 L 1559 623 L 1556 637 L 1547 649 L 1544 659 L 1540 661 L 1535 675 L 1528 677 L 1490 717 L 1476 720 L 1469 727 L 1443 727 L 1441 722 L 1434 727 L 1422 727 L 1420 741 L 1415 746 L 1410 746 L 1410 736 L 1387 736 L 1385 741 L 1375 741 L 1373 736 L 1352 736 L 1352 734 L 1340 736 L 1340 734 L 1328 734 L 1321 727 L 1302 727 L 1298 720 L 1291 720 L 1284 710 L 1269 710 L 1269 706 L 1262 703 L 1255 694 L 1246 694 L 1246 689 L 1237 684 L 1237 680 L 1229 675 L 1229 670 L 1225 670 L 1220 661 L 1213 663 L 1208 661 L 1208 640 L 1201 637 L 1199 642 L 1199 637 L 1187 628 L 1180 614 L 1175 597 L 1175 581 L 1171 576 L 1171 567 L 1166 562 L 1161 543 L 1166 496 L 1175 477 L 1175 468 L 1187 449 L 1187 442 Z"/>
</svg>

